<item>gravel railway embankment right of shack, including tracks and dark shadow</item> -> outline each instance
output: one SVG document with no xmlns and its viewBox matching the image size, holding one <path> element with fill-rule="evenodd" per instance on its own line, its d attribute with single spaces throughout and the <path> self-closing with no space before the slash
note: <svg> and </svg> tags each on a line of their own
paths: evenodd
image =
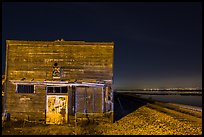
<svg viewBox="0 0 204 137">
<path fill-rule="evenodd" d="M 117 95 L 113 124 L 100 123 L 104 135 L 202 135 L 202 112 Z"/>
</svg>

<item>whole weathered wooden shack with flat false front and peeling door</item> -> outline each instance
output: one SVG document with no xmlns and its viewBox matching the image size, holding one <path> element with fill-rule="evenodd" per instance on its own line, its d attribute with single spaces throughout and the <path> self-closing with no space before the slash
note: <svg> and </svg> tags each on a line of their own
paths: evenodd
<svg viewBox="0 0 204 137">
<path fill-rule="evenodd" d="M 6 41 L 4 112 L 63 124 L 113 113 L 113 42 Z"/>
</svg>

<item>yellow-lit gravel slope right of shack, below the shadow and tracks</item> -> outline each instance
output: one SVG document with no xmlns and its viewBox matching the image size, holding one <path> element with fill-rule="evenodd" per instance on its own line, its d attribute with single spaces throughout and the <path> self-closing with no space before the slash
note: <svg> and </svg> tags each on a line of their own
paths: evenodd
<svg viewBox="0 0 204 137">
<path fill-rule="evenodd" d="M 97 129 L 104 135 L 202 135 L 202 123 L 181 121 L 146 106 Z"/>
</svg>

